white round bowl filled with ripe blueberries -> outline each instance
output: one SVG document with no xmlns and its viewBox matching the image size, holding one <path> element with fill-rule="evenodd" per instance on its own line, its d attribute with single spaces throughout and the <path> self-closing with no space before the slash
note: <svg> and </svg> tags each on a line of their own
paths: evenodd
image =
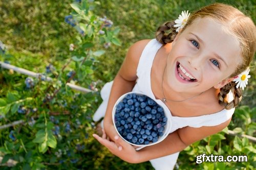
<svg viewBox="0 0 256 170">
<path fill-rule="evenodd" d="M 141 92 L 128 92 L 116 101 L 112 118 L 118 135 L 137 147 L 159 143 L 171 128 L 170 116 Z"/>
</svg>

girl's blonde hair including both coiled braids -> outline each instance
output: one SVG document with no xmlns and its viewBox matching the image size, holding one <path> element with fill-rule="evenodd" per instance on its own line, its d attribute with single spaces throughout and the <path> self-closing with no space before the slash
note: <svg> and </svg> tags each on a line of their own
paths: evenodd
<svg viewBox="0 0 256 170">
<path fill-rule="evenodd" d="M 239 75 L 248 68 L 255 54 L 256 29 L 253 21 L 250 17 L 232 6 L 216 3 L 203 7 L 191 14 L 180 33 L 182 33 L 182 31 L 185 30 L 187 26 L 191 25 L 196 19 L 203 17 L 208 17 L 221 23 L 228 32 L 232 36 L 236 37 L 240 42 L 243 61 L 237 66 L 236 71 L 234 71 L 229 78 Z M 165 22 L 164 25 L 157 29 L 156 39 L 162 44 L 173 42 L 177 35 L 174 25 L 174 21 Z M 225 99 L 230 90 L 233 93 L 234 100 L 227 102 Z M 241 96 L 241 88 L 236 88 L 236 84 L 234 82 L 230 82 L 220 89 L 218 94 L 219 104 L 225 106 L 226 109 L 231 109 L 238 106 L 241 101 Z"/>
</svg>

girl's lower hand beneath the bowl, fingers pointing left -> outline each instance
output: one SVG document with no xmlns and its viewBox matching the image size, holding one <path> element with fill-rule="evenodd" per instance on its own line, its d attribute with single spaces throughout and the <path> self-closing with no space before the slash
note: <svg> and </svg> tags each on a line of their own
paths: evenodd
<svg viewBox="0 0 256 170">
<path fill-rule="evenodd" d="M 122 160 L 129 163 L 139 162 L 138 152 L 131 144 L 125 142 L 122 138 L 120 138 L 117 135 L 114 137 L 114 141 L 111 141 L 108 139 L 108 136 L 106 136 L 106 133 L 103 129 L 102 132 L 102 137 L 96 134 L 93 134 L 93 137 L 97 139 L 106 148 L 108 148 L 112 154 L 118 156 Z"/>
</svg>

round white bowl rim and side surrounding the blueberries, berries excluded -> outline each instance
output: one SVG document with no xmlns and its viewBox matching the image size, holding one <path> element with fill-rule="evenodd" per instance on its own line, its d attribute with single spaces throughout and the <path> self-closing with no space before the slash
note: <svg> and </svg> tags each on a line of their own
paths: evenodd
<svg viewBox="0 0 256 170">
<path fill-rule="evenodd" d="M 125 140 L 126 142 L 128 142 L 128 143 L 130 143 L 130 144 L 132 144 L 132 145 L 135 145 L 135 146 L 137 146 L 137 147 L 143 147 L 143 148 L 161 142 L 162 140 L 164 140 L 164 139 L 168 136 L 169 131 L 170 131 L 171 127 L 172 127 L 172 123 L 171 123 L 171 121 L 170 121 L 170 115 L 169 115 L 168 112 L 166 112 L 166 111 L 164 110 L 164 108 L 163 108 L 162 106 L 161 106 L 161 107 L 162 107 L 163 110 L 164 110 L 164 114 L 165 114 L 165 117 L 167 118 L 167 122 L 166 122 L 166 125 L 164 126 L 163 135 L 160 136 L 160 137 L 158 137 L 158 140 L 157 140 L 156 142 L 151 142 L 151 143 L 149 143 L 149 144 L 135 144 L 135 143 L 132 143 L 132 142 L 130 142 L 130 141 L 127 141 L 127 140 L 126 140 L 124 137 L 122 137 L 122 135 L 118 132 L 117 127 L 116 127 L 116 124 L 115 124 L 116 106 L 125 98 L 125 96 L 126 96 L 127 94 L 134 94 L 134 93 L 139 94 L 139 95 L 145 95 L 145 94 L 143 94 L 143 93 L 141 93 L 141 92 L 133 92 L 133 91 L 132 91 L 132 92 L 127 92 L 127 93 L 125 93 L 125 94 L 123 94 L 123 95 L 120 96 L 120 98 L 116 101 L 116 103 L 115 103 L 115 105 L 114 105 L 114 107 L 113 107 L 113 111 L 112 111 L 112 120 L 113 120 L 113 124 L 114 124 L 114 127 L 115 127 L 115 129 L 116 129 L 118 135 L 119 135 L 123 140 Z M 147 96 L 147 95 L 145 95 L 145 96 Z M 148 96 L 147 96 L 147 97 L 148 97 Z M 150 98 L 150 97 L 148 97 L 148 98 Z M 152 98 L 150 98 L 150 99 L 152 99 Z M 152 99 L 152 100 L 155 101 L 154 99 Z M 155 101 L 155 102 L 159 105 L 159 103 L 158 103 L 157 101 Z M 160 106 L 160 105 L 159 105 L 159 106 Z"/>
</svg>

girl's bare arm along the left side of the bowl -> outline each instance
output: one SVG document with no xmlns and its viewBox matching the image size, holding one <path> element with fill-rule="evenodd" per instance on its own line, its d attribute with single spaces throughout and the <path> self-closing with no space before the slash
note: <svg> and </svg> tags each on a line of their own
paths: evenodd
<svg viewBox="0 0 256 170">
<path fill-rule="evenodd" d="M 148 41 L 150 40 L 138 41 L 129 48 L 123 64 L 114 79 L 104 117 L 104 130 L 111 140 L 114 140 L 114 136 L 117 135 L 112 121 L 114 104 L 122 94 L 132 91 L 137 79 L 136 72 L 139 59 Z"/>
</svg>

